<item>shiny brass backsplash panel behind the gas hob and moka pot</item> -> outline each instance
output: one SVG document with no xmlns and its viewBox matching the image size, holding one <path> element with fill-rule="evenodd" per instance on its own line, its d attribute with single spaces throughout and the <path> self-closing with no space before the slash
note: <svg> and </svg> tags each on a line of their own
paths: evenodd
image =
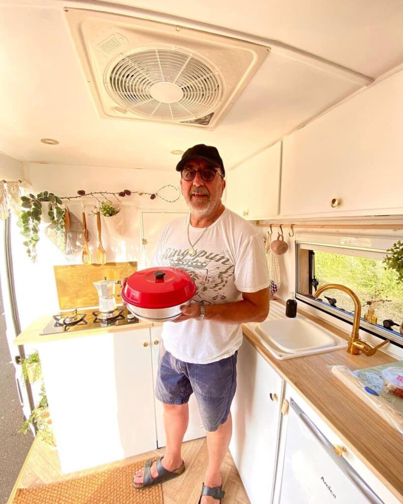
<svg viewBox="0 0 403 504">
<path fill-rule="evenodd" d="M 99 298 L 93 282 L 102 280 L 121 280 L 137 271 L 137 262 L 106 263 L 106 264 L 69 264 L 53 266 L 56 279 L 57 297 L 61 310 L 82 306 L 97 306 Z M 119 286 L 116 288 L 116 302 Z"/>
</svg>

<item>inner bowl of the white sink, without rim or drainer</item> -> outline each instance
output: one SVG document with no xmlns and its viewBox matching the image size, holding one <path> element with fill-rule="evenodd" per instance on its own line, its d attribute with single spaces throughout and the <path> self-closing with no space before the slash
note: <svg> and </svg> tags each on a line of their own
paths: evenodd
<svg viewBox="0 0 403 504">
<path fill-rule="evenodd" d="M 256 330 L 284 352 L 297 353 L 334 346 L 334 340 L 328 333 L 297 318 L 266 320 Z"/>
</svg>

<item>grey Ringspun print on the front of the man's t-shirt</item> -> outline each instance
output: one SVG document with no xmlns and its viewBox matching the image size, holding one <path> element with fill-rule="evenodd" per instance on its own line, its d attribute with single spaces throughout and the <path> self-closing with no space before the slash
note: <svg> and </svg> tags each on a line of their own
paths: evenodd
<svg viewBox="0 0 403 504">
<path fill-rule="evenodd" d="M 196 249 L 190 255 L 188 248 L 167 248 L 161 259 L 170 267 L 180 268 L 190 275 L 197 286 L 193 296 L 197 303 L 211 304 L 226 299 L 225 288 L 234 275 L 234 264 L 228 250 L 216 253 Z"/>
</svg>

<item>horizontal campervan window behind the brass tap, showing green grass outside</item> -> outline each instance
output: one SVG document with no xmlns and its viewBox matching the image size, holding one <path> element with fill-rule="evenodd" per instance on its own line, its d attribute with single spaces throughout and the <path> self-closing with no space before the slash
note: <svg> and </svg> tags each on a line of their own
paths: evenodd
<svg viewBox="0 0 403 504">
<path fill-rule="evenodd" d="M 297 298 L 352 323 L 354 303 L 345 292 L 329 289 L 320 295 L 321 302 L 312 298 L 317 287 L 325 284 L 349 287 L 361 301 L 361 329 L 403 347 L 399 333 L 403 289 L 397 283 L 397 272 L 383 264 L 392 244 L 393 239 L 385 237 L 302 236 L 296 241 Z M 365 320 L 368 309 L 375 314 Z M 397 325 L 385 328 L 383 321 L 387 320 Z"/>
</svg>

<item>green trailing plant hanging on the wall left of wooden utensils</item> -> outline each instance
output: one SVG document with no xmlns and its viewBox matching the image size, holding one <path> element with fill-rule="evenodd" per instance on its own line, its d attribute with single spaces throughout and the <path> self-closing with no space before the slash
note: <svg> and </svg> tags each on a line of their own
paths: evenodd
<svg viewBox="0 0 403 504">
<path fill-rule="evenodd" d="M 39 224 L 42 219 L 42 203 L 48 202 L 47 215 L 57 233 L 64 233 L 62 201 L 53 193 L 44 191 L 37 196 L 29 194 L 21 197 L 21 215 L 17 225 L 22 228 L 21 234 L 26 238 L 24 245 L 27 255 L 33 263 L 36 262 L 36 245 L 39 241 Z"/>
</svg>

